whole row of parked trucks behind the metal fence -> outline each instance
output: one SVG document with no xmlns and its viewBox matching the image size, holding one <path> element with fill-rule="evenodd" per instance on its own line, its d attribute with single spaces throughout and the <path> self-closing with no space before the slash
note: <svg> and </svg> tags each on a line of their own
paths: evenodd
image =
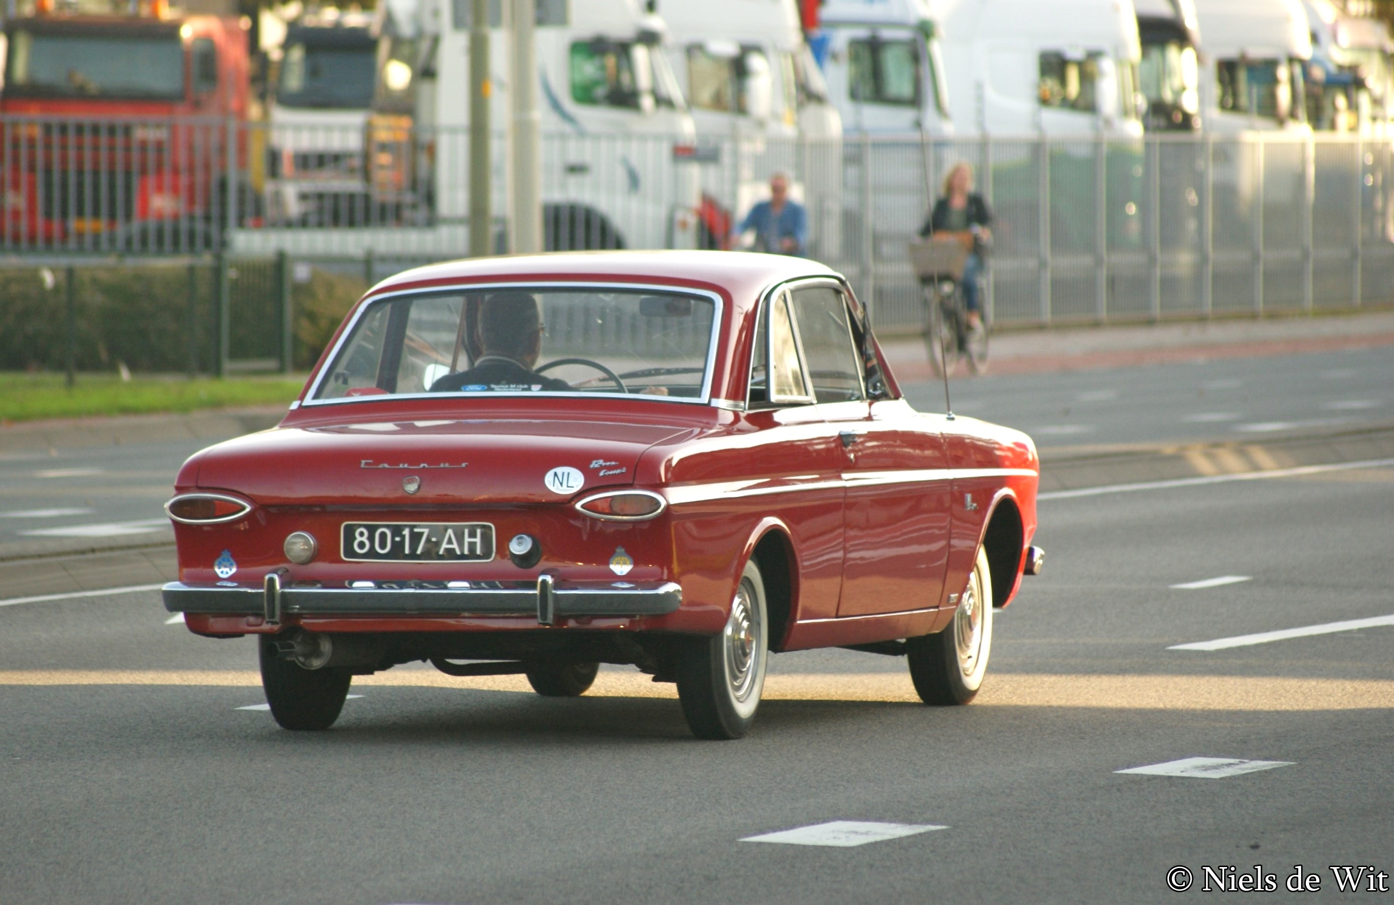
<svg viewBox="0 0 1394 905">
<path fill-rule="evenodd" d="M 0 43 L 6 245 L 194 248 L 245 226 L 369 245 L 365 230 L 467 229 L 467 180 L 446 163 L 468 138 L 467 0 L 298 10 L 280 28 L 162 0 L 103 15 L 49 3 L 10 18 Z M 496 126 L 510 6 L 491 4 Z M 835 237 L 843 135 L 1394 135 L 1394 43 L 1334 0 L 535 10 L 551 248 L 725 245 L 774 167 L 796 170 L 815 233 Z M 493 163 L 503 209 L 509 155 Z"/>
</svg>

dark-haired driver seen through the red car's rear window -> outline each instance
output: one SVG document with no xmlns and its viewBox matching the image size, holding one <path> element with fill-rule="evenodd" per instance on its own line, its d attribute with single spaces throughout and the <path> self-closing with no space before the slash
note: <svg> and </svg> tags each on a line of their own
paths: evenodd
<svg viewBox="0 0 1394 905">
<path fill-rule="evenodd" d="M 439 378 L 432 393 L 572 390 L 566 381 L 533 371 L 542 354 L 542 312 L 531 294 L 507 291 L 485 298 L 477 333 L 481 354 L 474 367 Z"/>
</svg>

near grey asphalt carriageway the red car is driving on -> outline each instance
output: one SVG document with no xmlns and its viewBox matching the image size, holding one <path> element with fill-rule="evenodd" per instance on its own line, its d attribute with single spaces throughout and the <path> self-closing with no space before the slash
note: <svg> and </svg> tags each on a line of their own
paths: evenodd
<svg viewBox="0 0 1394 905">
<path fill-rule="evenodd" d="M 1390 615 L 1391 505 L 1394 469 L 1046 499 L 977 703 L 783 654 L 722 743 L 634 671 L 544 700 L 395 669 L 291 733 L 245 710 L 252 644 L 153 593 L 0 607 L 0 901 L 1161 902 L 1177 866 L 1190 895 L 1257 866 L 1267 901 L 1296 865 L 1380 901 L 1328 866 L 1394 874 L 1394 626 L 1168 648 Z M 1117 773 L 1188 757 L 1281 766 Z M 838 820 L 944 828 L 742 841 Z"/>
</svg>

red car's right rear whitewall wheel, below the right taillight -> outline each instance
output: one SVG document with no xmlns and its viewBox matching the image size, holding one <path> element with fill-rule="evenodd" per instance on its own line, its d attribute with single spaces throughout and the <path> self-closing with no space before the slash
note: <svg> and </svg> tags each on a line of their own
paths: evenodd
<svg viewBox="0 0 1394 905">
<path fill-rule="evenodd" d="M 739 739 L 756 720 L 769 655 L 765 583 L 747 562 L 717 637 L 689 639 L 677 662 L 677 699 L 693 735 Z"/>
</svg>

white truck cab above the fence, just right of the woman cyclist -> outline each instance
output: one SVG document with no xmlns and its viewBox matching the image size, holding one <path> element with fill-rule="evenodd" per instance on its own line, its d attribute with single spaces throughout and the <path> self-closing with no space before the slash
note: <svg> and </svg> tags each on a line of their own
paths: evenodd
<svg viewBox="0 0 1394 905">
<path fill-rule="evenodd" d="M 1142 135 L 1132 0 L 942 0 L 958 134 Z"/>
</svg>

